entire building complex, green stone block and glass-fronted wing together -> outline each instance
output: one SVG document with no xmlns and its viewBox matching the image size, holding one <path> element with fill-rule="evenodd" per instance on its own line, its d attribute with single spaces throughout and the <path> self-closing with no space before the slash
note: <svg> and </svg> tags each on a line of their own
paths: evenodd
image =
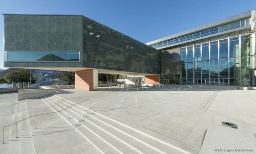
<svg viewBox="0 0 256 154">
<path fill-rule="evenodd" d="M 5 67 L 75 72 L 76 89 L 98 73 L 145 83 L 255 86 L 255 10 L 146 44 L 81 15 L 4 14 Z"/>
</svg>

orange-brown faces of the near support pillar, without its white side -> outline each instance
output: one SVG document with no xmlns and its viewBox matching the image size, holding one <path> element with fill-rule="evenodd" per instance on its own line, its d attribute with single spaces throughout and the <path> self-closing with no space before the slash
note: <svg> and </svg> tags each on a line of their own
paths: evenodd
<svg viewBox="0 0 256 154">
<path fill-rule="evenodd" d="M 84 69 L 75 72 L 75 89 L 93 90 L 93 69 Z"/>
</svg>

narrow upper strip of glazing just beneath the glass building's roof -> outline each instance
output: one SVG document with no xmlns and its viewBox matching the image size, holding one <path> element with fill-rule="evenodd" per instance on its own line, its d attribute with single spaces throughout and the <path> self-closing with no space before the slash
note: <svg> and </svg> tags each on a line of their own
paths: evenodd
<svg viewBox="0 0 256 154">
<path fill-rule="evenodd" d="M 189 34 L 186 36 L 182 36 L 179 38 L 175 38 L 169 41 L 165 41 L 165 42 L 161 42 L 158 44 L 154 44 L 151 45 L 154 48 L 160 48 L 160 47 L 164 47 L 167 45 L 172 45 L 172 44 L 176 44 L 176 43 L 180 43 L 180 42 L 184 42 L 184 41 L 188 41 L 188 40 L 192 40 L 192 39 L 197 39 L 200 37 L 205 37 L 208 35 L 213 35 L 213 34 L 218 34 L 218 33 L 222 33 L 222 32 L 226 32 L 229 30 L 233 30 L 233 29 L 237 29 L 237 28 L 242 28 L 245 27 L 247 25 L 249 25 L 249 18 L 247 19 L 243 19 L 243 20 L 239 20 L 239 21 L 234 21 L 234 22 L 230 22 L 224 25 L 220 25 L 219 27 L 216 28 L 212 28 L 212 29 L 208 29 L 208 30 L 204 30 L 201 32 L 197 32 L 194 34 Z"/>
</svg>

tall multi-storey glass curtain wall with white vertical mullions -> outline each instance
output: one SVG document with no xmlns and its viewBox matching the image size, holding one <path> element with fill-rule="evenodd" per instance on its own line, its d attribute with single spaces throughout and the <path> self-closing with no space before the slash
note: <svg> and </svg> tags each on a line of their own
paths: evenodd
<svg viewBox="0 0 256 154">
<path fill-rule="evenodd" d="M 256 86 L 253 37 L 241 35 L 182 47 L 180 83 Z"/>
</svg>

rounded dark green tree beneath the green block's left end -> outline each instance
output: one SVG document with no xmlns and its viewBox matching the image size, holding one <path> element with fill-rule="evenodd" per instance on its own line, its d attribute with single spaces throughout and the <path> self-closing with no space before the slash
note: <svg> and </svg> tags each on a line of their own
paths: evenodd
<svg viewBox="0 0 256 154">
<path fill-rule="evenodd" d="M 8 84 L 13 82 L 30 82 L 31 76 L 31 83 L 35 83 L 35 79 L 33 78 L 32 74 L 27 69 L 17 69 L 14 71 L 10 71 L 4 75 L 4 79 Z"/>
</svg>

